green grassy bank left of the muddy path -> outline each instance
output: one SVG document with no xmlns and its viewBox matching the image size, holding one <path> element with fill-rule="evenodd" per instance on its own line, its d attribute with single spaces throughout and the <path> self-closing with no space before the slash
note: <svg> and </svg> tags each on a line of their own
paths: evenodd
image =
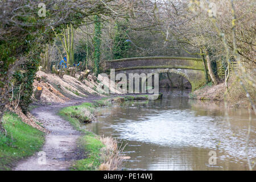
<svg viewBox="0 0 256 182">
<path fill-rule="evenodd" d="M 22 122 L 18 115 L 5 113 L 5 134 L 0 133 L 0 170 L 11 170 L 18 160 L 33 155 L 44 144 L 44 133 Z"/>
</svg>

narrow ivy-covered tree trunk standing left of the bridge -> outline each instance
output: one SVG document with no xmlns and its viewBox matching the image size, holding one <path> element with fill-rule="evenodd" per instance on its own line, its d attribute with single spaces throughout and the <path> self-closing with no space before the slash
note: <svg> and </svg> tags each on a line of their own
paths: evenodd
<svg viewBox="0 0 256 182">
<path fill-rule="evenodd" d="M 98 15 L 94 16 L 94 38 L 93 38 L 93 44 L 94 44 L 94 72 L 96 73 L 96 76 L 98 76 L 98 73 L 100 73 L 100 57 L 101 57 L 101 22 Z"/>
</svg>

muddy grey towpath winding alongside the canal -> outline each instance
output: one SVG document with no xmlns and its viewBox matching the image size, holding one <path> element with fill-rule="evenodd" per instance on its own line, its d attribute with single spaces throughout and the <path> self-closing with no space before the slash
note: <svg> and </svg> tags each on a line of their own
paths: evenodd
<svg viewBox="0 0 256 182">
<path fill-rule="evenodd" d="M 43 123 L 49 133 L 46 134 L 46 142 L 41 150 L 43 152 L 36 152 L 30 158 L 18 162 L 14 170 L 68 170 L 74 160 L 84 158 L 84 154 L 80 152 L 76 144 L 76 140 L 81 133 L 73 129 L 71 124 L 57 115 L 57 113 L 63 107 L 79 105 L 82 102 L 92 102 L 100 98 L 100 96 L 89 96 L 80 100 L 68 101 L 64 104 L 43 105 L 32 110 L 31 113 Z M 42 160 L 44 154 L 46 160 Z"/>
</svg>

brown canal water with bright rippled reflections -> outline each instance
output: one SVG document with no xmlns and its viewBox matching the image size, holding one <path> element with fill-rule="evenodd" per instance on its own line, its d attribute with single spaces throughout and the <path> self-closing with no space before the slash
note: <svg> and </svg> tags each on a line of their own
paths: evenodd
<svg viewBox="0 0 256 182">
<path fill-rule="evenodd" d="M 99 135 L 126 144 L 131 156 L 124 169 L 138 170 L 247 170 L 247 110 L 230 110 L 215 102 L 188 99 L 188 91 L 166 92 L 148 104 L 102 108 L 97 122 L 86 125 Z M 256 158 L 255 116 L 248 147 Z M 209 152 L 217 164 L 209 164 Z"/>
</svg>

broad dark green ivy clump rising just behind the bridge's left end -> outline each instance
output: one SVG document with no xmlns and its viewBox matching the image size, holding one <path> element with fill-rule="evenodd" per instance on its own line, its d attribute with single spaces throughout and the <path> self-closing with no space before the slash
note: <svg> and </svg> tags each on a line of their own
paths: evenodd
<svg viewBox="0 0 256 182">
<path fill-rule="evenodd" d="M 128 28 L 125 25 L 117 23 L 115 30 L 113 59 L 126 58 L 127 51 L 130 49 L 130 43 L 127 41 Z"/>
</svg>

